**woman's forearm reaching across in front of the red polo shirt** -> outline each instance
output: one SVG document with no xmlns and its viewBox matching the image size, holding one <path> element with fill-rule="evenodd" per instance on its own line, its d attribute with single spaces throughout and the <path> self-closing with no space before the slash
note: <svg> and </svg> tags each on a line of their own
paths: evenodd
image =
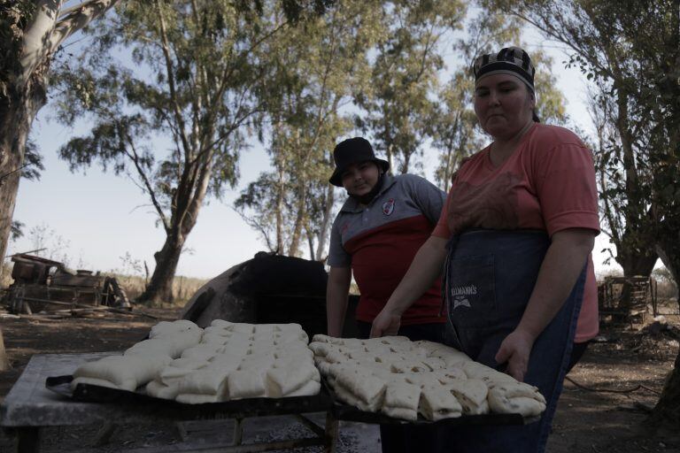
<svg viewBox="0 0 680 453">
<path fill-rule="evenodd" d="M 444 238 L 429 236 L 429 239 L 421 245 L 406 275 L 399 282 L 383 310 L 373 320 L 371 337 L 397 334 L 402 313 L 442 274 L 446 242 Z"/>
</svg>

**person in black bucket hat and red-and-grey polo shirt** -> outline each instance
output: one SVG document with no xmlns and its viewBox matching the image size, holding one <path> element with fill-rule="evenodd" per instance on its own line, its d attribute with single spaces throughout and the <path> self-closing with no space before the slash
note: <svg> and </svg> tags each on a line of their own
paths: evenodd
<svg viewBox="0 0 680 453">
<path fill-rule="evenodd" d="M 359 337 L 368 338 L 375 315 L 406 273 L 413 256 L 432 233 L 444 205 L 444 192 L 413 174 L 389 173 L 386 160 L 375 157 L 370 142 L 354 137 L 333 151 L 336 168 L 329 182 L 347 191 L 337 214 L 328 252 L 328 334 L 343 336 L 352 280 L 361 296 L 355 312 Z M 437 281 L 404 313 L 399 334 L 413 341 L 444 341 Z M 437 430 L 381 426 L 383 452 L 435 451 Z"/>
</svg>

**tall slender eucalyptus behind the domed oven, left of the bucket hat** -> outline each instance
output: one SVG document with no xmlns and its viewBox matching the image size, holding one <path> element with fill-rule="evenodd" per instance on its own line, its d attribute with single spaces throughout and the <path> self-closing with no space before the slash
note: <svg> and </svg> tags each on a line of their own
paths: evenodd
<svg viewBox="0 0 680 453">
<path fill-rule="evenodd" d="M 366 89 L 367 51 L 380 37 L 376 2 L 337 2 L 304 29 L 269 42 L 273 58 L 267 150 L 273 171 L 236 201 L 270 250 L 297 256 L 306 237 L 309 255 L 321 260 L 335 205 L 328 184 L 332 150 L 352 121 L 352 99 Z"/>
</svg>

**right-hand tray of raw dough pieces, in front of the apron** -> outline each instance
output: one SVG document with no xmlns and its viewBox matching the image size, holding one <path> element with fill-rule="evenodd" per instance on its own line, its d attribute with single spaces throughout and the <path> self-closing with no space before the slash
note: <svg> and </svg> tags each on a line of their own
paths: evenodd
<svg viewBox="0 0 680 453">
<path fill-rule="evenodd" d="M 338 419 L 522 425 L 545 411 L 536 387 L 441 343 L 314 335 L 309 348 Z"/>
</svg>

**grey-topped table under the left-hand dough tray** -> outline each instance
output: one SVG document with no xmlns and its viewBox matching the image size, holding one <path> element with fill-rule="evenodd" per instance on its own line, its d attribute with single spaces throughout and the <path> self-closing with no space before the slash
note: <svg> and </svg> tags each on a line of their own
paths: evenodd
<svg viewBox="0 0 680 453">
<path fill-rule="evenodd" d="M 114 352 L 94 354 L 37 354 L 31 357 L 19 380 L 0 405 L 0 426 L 13 433 L 17 437 L 17 451 L 20 453 L 33 453 L 40 450 L 41 429 L 47 426 L 83 426 L 101 423 L 104 427 L 100 432 L 105 437 L 107 430 L 111 429 L 112 420 L 120 422 L 150 422 L 154 420 L 184 421 L 188 419 L 205 419 L 205 414 L 192 411 L 163 411 L 145 408 L 140 411 L 139 407 L 129 404 L 116 403 L 78 403 L 58 395 L 45 388 L 45 380 L 50 376 L 62 376 L 72 374 L 83 362 L 96 360 L 104 356 L 116 354 Z M 234 442 L 230 446 L 215 448 L 182 449 L 182 451 L 210 452 L 254 452 L 269 449 L 293 449 L 313 445 L 322 445 L 328 452 L 335 452 L 338 434 L 338 421 L 330 411 L 327 412 L 326 425 L 319 426 L 302 413 L 288 412 L 298 418 L 307 426 L 316 437 L 296 439 L 290 441 L 277 441 L 268 443 L 242 443 L 243 418 L 257 415 L 241 413 L 238 417 L 224 412 L 211 413 L 211 418 L 234 418 L 235 432 Z M 277 413 L 276 415 L 283 415 Z M 110 433 L 108 433 L 110 434 Z M 187 447 L 184 445 L 183 447 Z M 190 448 L 190 446 L 189 446 Z M 143 451 L 143 450 L 138 450 Z M 163 449 L 151 448 L 151 451 L 163 451 Z"/>
</svg>

